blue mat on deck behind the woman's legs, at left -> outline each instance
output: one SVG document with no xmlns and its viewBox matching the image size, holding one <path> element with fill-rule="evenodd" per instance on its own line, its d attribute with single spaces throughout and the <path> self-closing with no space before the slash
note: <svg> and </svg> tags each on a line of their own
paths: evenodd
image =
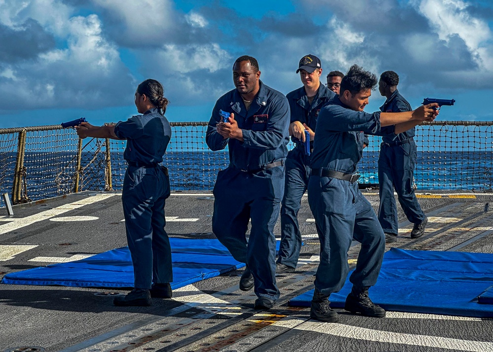
<svg viewBox="0 0 493 352">
<path fill-rule="evenodd" d="M 245 266 L 218 240 L 170 238 L 172 288 L 209 279 Z M 279 249 L 279 241 L 277 242 Z M 116 248 L 70 263 L 52 264 L 10 273 L 1 283 L 77 287 L 133 287 L 134 271 L 128 247 Z"/>
</svg>

